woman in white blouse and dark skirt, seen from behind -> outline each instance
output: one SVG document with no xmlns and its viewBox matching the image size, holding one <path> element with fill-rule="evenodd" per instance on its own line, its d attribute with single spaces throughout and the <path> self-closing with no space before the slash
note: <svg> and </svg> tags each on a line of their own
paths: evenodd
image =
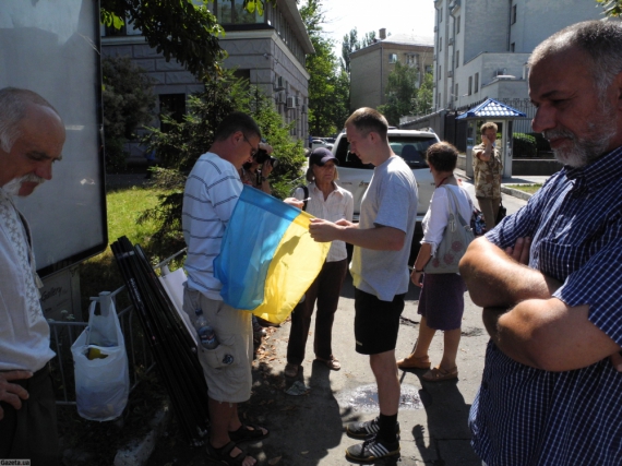
<svg viewBox="0 0 622 466">
<path fill-rule="evenodd" d="M 430 171 L 434 177 L 436 189 L 430 200 L 430 207 L 423 217 L 423 239 L 421 249 L 415 261 L 410 279 L 421 287 L 418 313 L 419 337 L 415 351 L 397 361 L 397 367 L 407 369 L 429 369 L 428 349 L 438 330 L 444 332 L 443 358 L 435 368 L 423 374 L 423 380 L 439 382 L 456 379 L 456 355 L 460 340 L 460 324 L 464 313 L 465 284 L 459 274 L 428 274 L 423 267 L 436 252 L 443 239 L 443 232 L 450 218 L 450 200 L 446 190 L 450 189 L 458 200 L 457 210 L 463 218 L 470 218 L 473 203 L 454 177 L 458 157 L 457 150 L 450 143 L 440 142 L 428 148 L 426 154 Z M 443 187 L 444 189 L 439 189 Z M 421 279 L 422 277 L 422 279 Z"/>
</svg>

